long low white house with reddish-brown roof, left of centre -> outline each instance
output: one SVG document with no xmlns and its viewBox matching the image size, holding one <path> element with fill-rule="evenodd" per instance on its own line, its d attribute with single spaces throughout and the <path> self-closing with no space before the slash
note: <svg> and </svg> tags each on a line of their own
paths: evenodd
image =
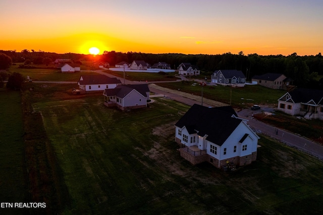
<svg viewBox="0 0 323 215">
<path fill-rule="evenodd" d="M 82 75 L 77 84 L 81 93 L 88 93 L 114 89 L 121 84 L 121 81 L 104 75 Z"/>
</svg>

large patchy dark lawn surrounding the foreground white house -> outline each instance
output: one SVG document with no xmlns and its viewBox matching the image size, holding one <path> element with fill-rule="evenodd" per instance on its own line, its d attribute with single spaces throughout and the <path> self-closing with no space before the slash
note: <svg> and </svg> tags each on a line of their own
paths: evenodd
<svg viewBox="0 0 323 215">
<path fill-rule="evenodd" d="M 156 98 L 149 108 L 121 112 L 103 106 L 101 95 L 64 89 L 35 86 L 24 95 L 42 117 L 63 178 L 57 183 L 67 189 L 63 214 L 323 212 L 323 164 L 315 158 L 261 136 L 250 166 L 230 174 L 192 166 L 174 141 L 188 106 Z"/>
</svg>

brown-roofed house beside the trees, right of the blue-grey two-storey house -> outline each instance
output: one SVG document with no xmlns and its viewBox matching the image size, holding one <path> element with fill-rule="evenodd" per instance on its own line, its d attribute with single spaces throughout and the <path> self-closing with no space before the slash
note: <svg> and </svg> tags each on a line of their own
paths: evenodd
<svg viewBox="0 0 323 215">
<path fill-rule="evenodd" d="M 292 86 L 293 81 L 290 78 L 287 78 L 283 74 L 276 73 L 266 73 L 261 76 L 254 76 L 251 81 L 258 85 L 277 90 L 289 90 L 294 87 Z"/>
</svg>

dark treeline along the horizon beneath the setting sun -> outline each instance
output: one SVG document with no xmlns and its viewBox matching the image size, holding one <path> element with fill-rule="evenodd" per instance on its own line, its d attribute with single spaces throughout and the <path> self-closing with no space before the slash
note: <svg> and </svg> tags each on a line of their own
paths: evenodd
<svg viewBox="0 0 323 215">
<path fill-rule="evenodd" d="M 41 62 L 41 58 L 50 58 L 55 61 L 57 58 L 69 58 L 73 61 L 77 60 L 95 60 L 108 62 L 111 66 L 121 61 L 131 63 L 133 60 L 144 60 L 149 64 L 157 62 L 167 62 L 172 68 L 177 68 L 182 62 L 190 62 L 197 65 L 203 76 L 210 76 L 216 69 L 238 69 L 242 70 L 247 80 L 251 80 L 254 75 L 262 75 L 265 73 L 280 73 L 294 80 L 294 85 L 306 88 L 323 88 L 323 79 L 318 80 L 318 76 L 323 75 L 323 56 L 321 53 L 316 55 L 299 56 L 292 53 L 288 56 L 284 55 L 244 55 L 243 51 L 238 54 L 179 54 L 164 53 L 152 54 L 141 52 L 116 52 L 104 51 L 101 55 L 93 57 L 90 54 L 77 53 L 52 53 L 44 51 L 34 51 L 24 49 L 21 52 L 2 51 L 7 54 L 15 62 L 25 62 L 30 60 L 34 64 Z"/>
</svg>

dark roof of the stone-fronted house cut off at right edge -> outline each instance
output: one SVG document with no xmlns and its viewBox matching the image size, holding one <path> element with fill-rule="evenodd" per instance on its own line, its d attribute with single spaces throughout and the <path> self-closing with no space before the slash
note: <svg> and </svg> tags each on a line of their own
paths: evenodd
<svg viewBox="0 0 323 215">
<path fill-rule="evenodd" d="M 316 105 L 323 104 L 323 91 L 314 89 L 296 88 L 289 92 L 295 103 L 308 103 L 313 100 Z"/>
</svg>

